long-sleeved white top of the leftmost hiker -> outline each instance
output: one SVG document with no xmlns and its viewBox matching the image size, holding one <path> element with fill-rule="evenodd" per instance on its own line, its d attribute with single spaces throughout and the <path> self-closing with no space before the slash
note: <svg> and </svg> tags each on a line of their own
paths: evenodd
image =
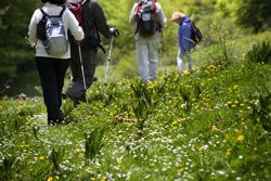
<svg viewBox="0 0 271 181">
<path fill-rule="evenodd" d="M 49 15 L 60 15 L 62 11 L 62 7 L 52 4 L 50 2 L 44 3 L 42 7 L 43 11 Z M 31 17 L 29 27 L 28 27 L 28 37 L 30 42 L 35 46 L 36 44 L 36 56 L 42 57 L 55 57 L 55 59 L 70 59 L 70 46 L 68 44 L 68 51 L 62 55 L 49 55 L 43 47 L 43 43 L 40 39 L 37 38 L 37 24 L 42 18 L 43 14 L 39 9 L 37 9 Z M 82 28 L 79 26 L 76 17 L 69 10 L 65 10 L 63 15 L 63 24 L 65 27 L 65 33 L 67 37 L 68 30 L 74 36 L 76 40 L 83 39 L 83 31 Z"/>
</svg>

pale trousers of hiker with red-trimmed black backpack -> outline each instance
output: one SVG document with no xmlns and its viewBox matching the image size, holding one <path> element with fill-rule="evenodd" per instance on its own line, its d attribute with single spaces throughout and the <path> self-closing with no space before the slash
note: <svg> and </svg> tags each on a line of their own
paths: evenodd
<svg viewBox="0 0 271 181">
<path fill-rule="evenodd" d="M 143 81 L 157 80 L 159 40 L 137 41 L 140 77 Z"/>
</svg>

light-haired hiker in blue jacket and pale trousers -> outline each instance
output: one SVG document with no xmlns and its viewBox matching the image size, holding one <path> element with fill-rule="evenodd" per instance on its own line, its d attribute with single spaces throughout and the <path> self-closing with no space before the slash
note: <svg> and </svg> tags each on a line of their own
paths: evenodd
<svg viewBox="0 0 271 181">
<path fill-rule="evenodd" d="M 184 56 L 186 56 L 188 60 L 188 69 L 192 69 L 193 60 L 191 56 L 191 49 L 195 47 L 195 44 L 191 40 L 192 31 L 190 25 L 190 17 L 185 16 L 185 14 L 181 12 L 175 12 L 171 21 L 180 25 L 178 30 L 179 50 L 177 55 L 177 65 L 178 72 L 183 73 Z"/>
</svg>

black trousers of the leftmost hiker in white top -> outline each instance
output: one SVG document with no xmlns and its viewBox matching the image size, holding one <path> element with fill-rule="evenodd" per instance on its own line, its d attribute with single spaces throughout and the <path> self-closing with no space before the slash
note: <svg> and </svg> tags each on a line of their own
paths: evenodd
<svg viewBox="0 0 271 181">
<path fill-rule="evenodd" d="M 62 89 L 69 60 L 36 57 L 48 121 L 61 121 Z"/>
</svg>

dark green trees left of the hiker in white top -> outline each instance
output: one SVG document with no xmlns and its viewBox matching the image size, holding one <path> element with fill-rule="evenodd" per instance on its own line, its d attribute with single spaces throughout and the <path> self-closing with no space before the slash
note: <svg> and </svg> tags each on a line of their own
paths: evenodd
<svg viewBox="0 0 271 181">
<path fill-rule="evenodd" d="M 36 0 L 1 0 L 0 3 L 0 86 L 16 76 L 17 65 L 33 60 L 34 53 L 25 42 L 27 27 Z"/>
</svg>

